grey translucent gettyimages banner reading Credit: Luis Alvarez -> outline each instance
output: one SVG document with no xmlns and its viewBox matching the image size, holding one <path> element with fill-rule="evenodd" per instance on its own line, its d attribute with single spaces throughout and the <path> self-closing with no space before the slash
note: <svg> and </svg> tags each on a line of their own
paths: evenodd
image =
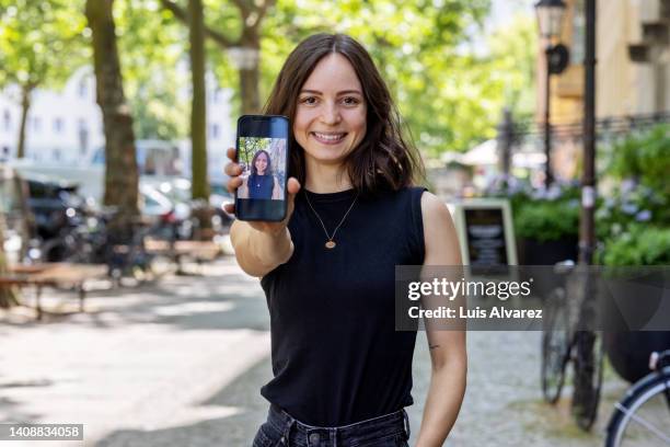
<svg viewBox="0 0 670 447">
<path fill-rule="evenodd" d="M 670 267 L 395 268 L 398 331 L 542 331 L 551 321 L 576 330 L 670 331 Z"/>
</svg>

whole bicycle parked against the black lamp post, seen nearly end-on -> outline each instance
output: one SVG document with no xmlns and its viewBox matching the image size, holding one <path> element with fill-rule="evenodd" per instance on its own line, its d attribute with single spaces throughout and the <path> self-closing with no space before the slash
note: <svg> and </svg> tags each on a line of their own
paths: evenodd
<svg viewBox="0 0 670 447">
<path fill-rule="evenodd" d="M 577 425 L 588 431 L 596 422 L 604 347 L 602 336 L 591 330 L 596 314 L 592 278 L 589 272 L 575 268 L 575 263 L 558 263 L 555 273 L 564 278 L 545 303 L 542 331 L 541 383 L 544 400 L 555 404 L 566 380 L 567 366 L 573 364 L 574 390 L 570 403 Z M 588 291 L 587 291 L 588 289 Z"/>
</svg>

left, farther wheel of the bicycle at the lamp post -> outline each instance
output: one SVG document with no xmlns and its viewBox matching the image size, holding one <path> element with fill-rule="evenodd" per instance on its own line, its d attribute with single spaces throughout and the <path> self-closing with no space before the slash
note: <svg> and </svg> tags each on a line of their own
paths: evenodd
<svg viewBox="0 0 670 447">
<path fill-rule="evenodd" d="M 564 289 L 556 289 L 547 299 L 542 330 L 542 396 L 556 403 L 565 383 L 565 370 L 570 353 L 569 316 Z"/>
</svg>

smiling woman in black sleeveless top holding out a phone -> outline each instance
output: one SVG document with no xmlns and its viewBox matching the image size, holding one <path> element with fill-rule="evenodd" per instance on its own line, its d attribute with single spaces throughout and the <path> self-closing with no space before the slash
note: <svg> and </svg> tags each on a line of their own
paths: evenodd
<svg viewBox="0 0 670 447">
<path fill-rule="evenodd" d="M 406 446 L 416 331 L 395 331 L 394 267 L 461 263 L 449 211 L 413 186 L 420 159 L 351 37 L 298 45 L 265 113 L 291 119 L 289 213 L 231 228 L 238 262 L 262 278 L 270 312 L 274 379 L 261 389 L 270 409 L 254 446 Z M 235 191 L 240 167 L 226 172 Z M 447 438 L 466 370 L 464 332 L 427 335 L 425 447 Z"/>
</svg>

